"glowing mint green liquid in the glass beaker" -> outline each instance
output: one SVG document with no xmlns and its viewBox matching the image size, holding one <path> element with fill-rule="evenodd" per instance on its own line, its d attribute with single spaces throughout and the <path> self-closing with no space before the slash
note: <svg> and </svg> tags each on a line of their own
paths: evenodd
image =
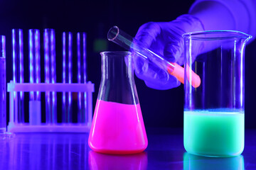
<svg viewBox="0 0 256 170">
<path fill-rule="evenodd" d="M 245 114 L 184 111 L 184 147 L 188 153 L 233 157 L 245 145 Z"/>
</svg>

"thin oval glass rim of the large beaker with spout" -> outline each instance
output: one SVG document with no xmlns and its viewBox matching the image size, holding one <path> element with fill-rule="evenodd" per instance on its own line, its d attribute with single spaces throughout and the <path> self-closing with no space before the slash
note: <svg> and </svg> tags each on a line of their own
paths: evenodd
<svg viewBox="0 0 256 170">
<path fill-rule="evenodd" d="M 250 39 L 252 35 L 242 33 L 238 30 L 203 30 L 191 33 L 184 33 L 183 38 L 191 38 L 192 40 L 226 40 L 232 38 Z"/>
</svg>

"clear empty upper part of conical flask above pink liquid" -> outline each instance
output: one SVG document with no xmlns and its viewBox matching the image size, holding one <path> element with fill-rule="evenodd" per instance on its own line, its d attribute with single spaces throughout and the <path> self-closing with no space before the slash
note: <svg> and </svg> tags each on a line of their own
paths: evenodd
<svg viewBox="0 0 256 170">
<path fill-rule="evenodd" d="M 130 52 L 102 52 L 102 80 L 98 99 L 125 104 L 139 103 Z"/>
</svg>

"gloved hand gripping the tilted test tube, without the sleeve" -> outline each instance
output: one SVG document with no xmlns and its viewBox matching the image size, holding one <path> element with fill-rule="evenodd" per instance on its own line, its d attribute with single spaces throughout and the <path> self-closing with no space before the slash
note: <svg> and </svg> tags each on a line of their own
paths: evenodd
<svg viewBox="0 0 256 170">
<path fill-rule="evenodd" d="M 201 21 L 186 14 L 171 22 L 145 23 L 139 28 L 135 38 L 142 42 L 144 47 L 159 53 L 169 62 L 182 65 L 184 63 L 183 33 L 200 30 L 203 30 Z M 164 69 L 136 55 L 134 56 L 134 69 L 137 77 L 143 79 L 146 86 L 152 89 L 171 89 L 181 84 Z"/>
</svg>

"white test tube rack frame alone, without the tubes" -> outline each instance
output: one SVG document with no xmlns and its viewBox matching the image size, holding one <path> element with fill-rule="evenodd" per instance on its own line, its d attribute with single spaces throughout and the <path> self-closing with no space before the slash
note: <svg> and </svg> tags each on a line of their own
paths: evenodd
<svg viewBox="0 0 256 170">
<path fill-rule="evenodd" d="M 31 83 L 15 83 L 11 81 L 7 84 L 7 91 L 10 93 L 9 109 L 10 120 L 7 130 L 9 132 L 90 132 L 90 126 L 92 123 L 92 92 L 94 92 L 94 84 L 90 81 L 87 84 L 31 84 Z M 55 92 L 84 92 L 87 94 L 87 124 L 81 123 L 56 123 L 40 125 L 31 125 L 30 123 L 18 123 L 18 111 L 17 104 L 14 104 L 14 93 L 16 92 L 31 92 L 31 91 L 55 91 Z M 14 112 L 14 110 L 16 112 Z M 41 120 L 40 120 L 41 121 Z"/>
</svg>

